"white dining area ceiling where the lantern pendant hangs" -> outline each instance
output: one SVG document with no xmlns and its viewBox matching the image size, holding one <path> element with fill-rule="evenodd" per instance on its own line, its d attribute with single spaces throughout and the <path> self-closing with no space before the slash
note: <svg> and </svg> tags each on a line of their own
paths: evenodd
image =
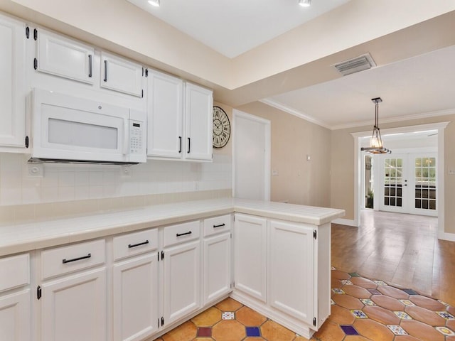
<svg viewBox="0 0 455 341">
<path fill-rule="evenodd" d="M 374 58 L 374 56 L 373 56 Z M 266 102 L 331 129 L 454 112 L 455 46 L 269 97 Z"/>
</svg>

